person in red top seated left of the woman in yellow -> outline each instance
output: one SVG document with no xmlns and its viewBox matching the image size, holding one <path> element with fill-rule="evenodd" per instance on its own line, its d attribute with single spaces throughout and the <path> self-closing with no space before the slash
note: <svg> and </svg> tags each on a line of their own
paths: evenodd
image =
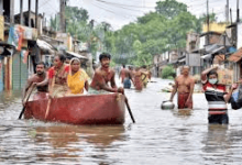
<svg viewBox="0 0 242 165">
<path fill-rule="evenodd" d="M 64 97 L 68 91 L 67 76 L 69 74 L 69 65 L 65 65 L 65 56 L 58 54 L 54 58 L 54 66 L 48 69 L 48 77 L 37 87 L 48 84 L 51 97 Z"/>
</svg>

